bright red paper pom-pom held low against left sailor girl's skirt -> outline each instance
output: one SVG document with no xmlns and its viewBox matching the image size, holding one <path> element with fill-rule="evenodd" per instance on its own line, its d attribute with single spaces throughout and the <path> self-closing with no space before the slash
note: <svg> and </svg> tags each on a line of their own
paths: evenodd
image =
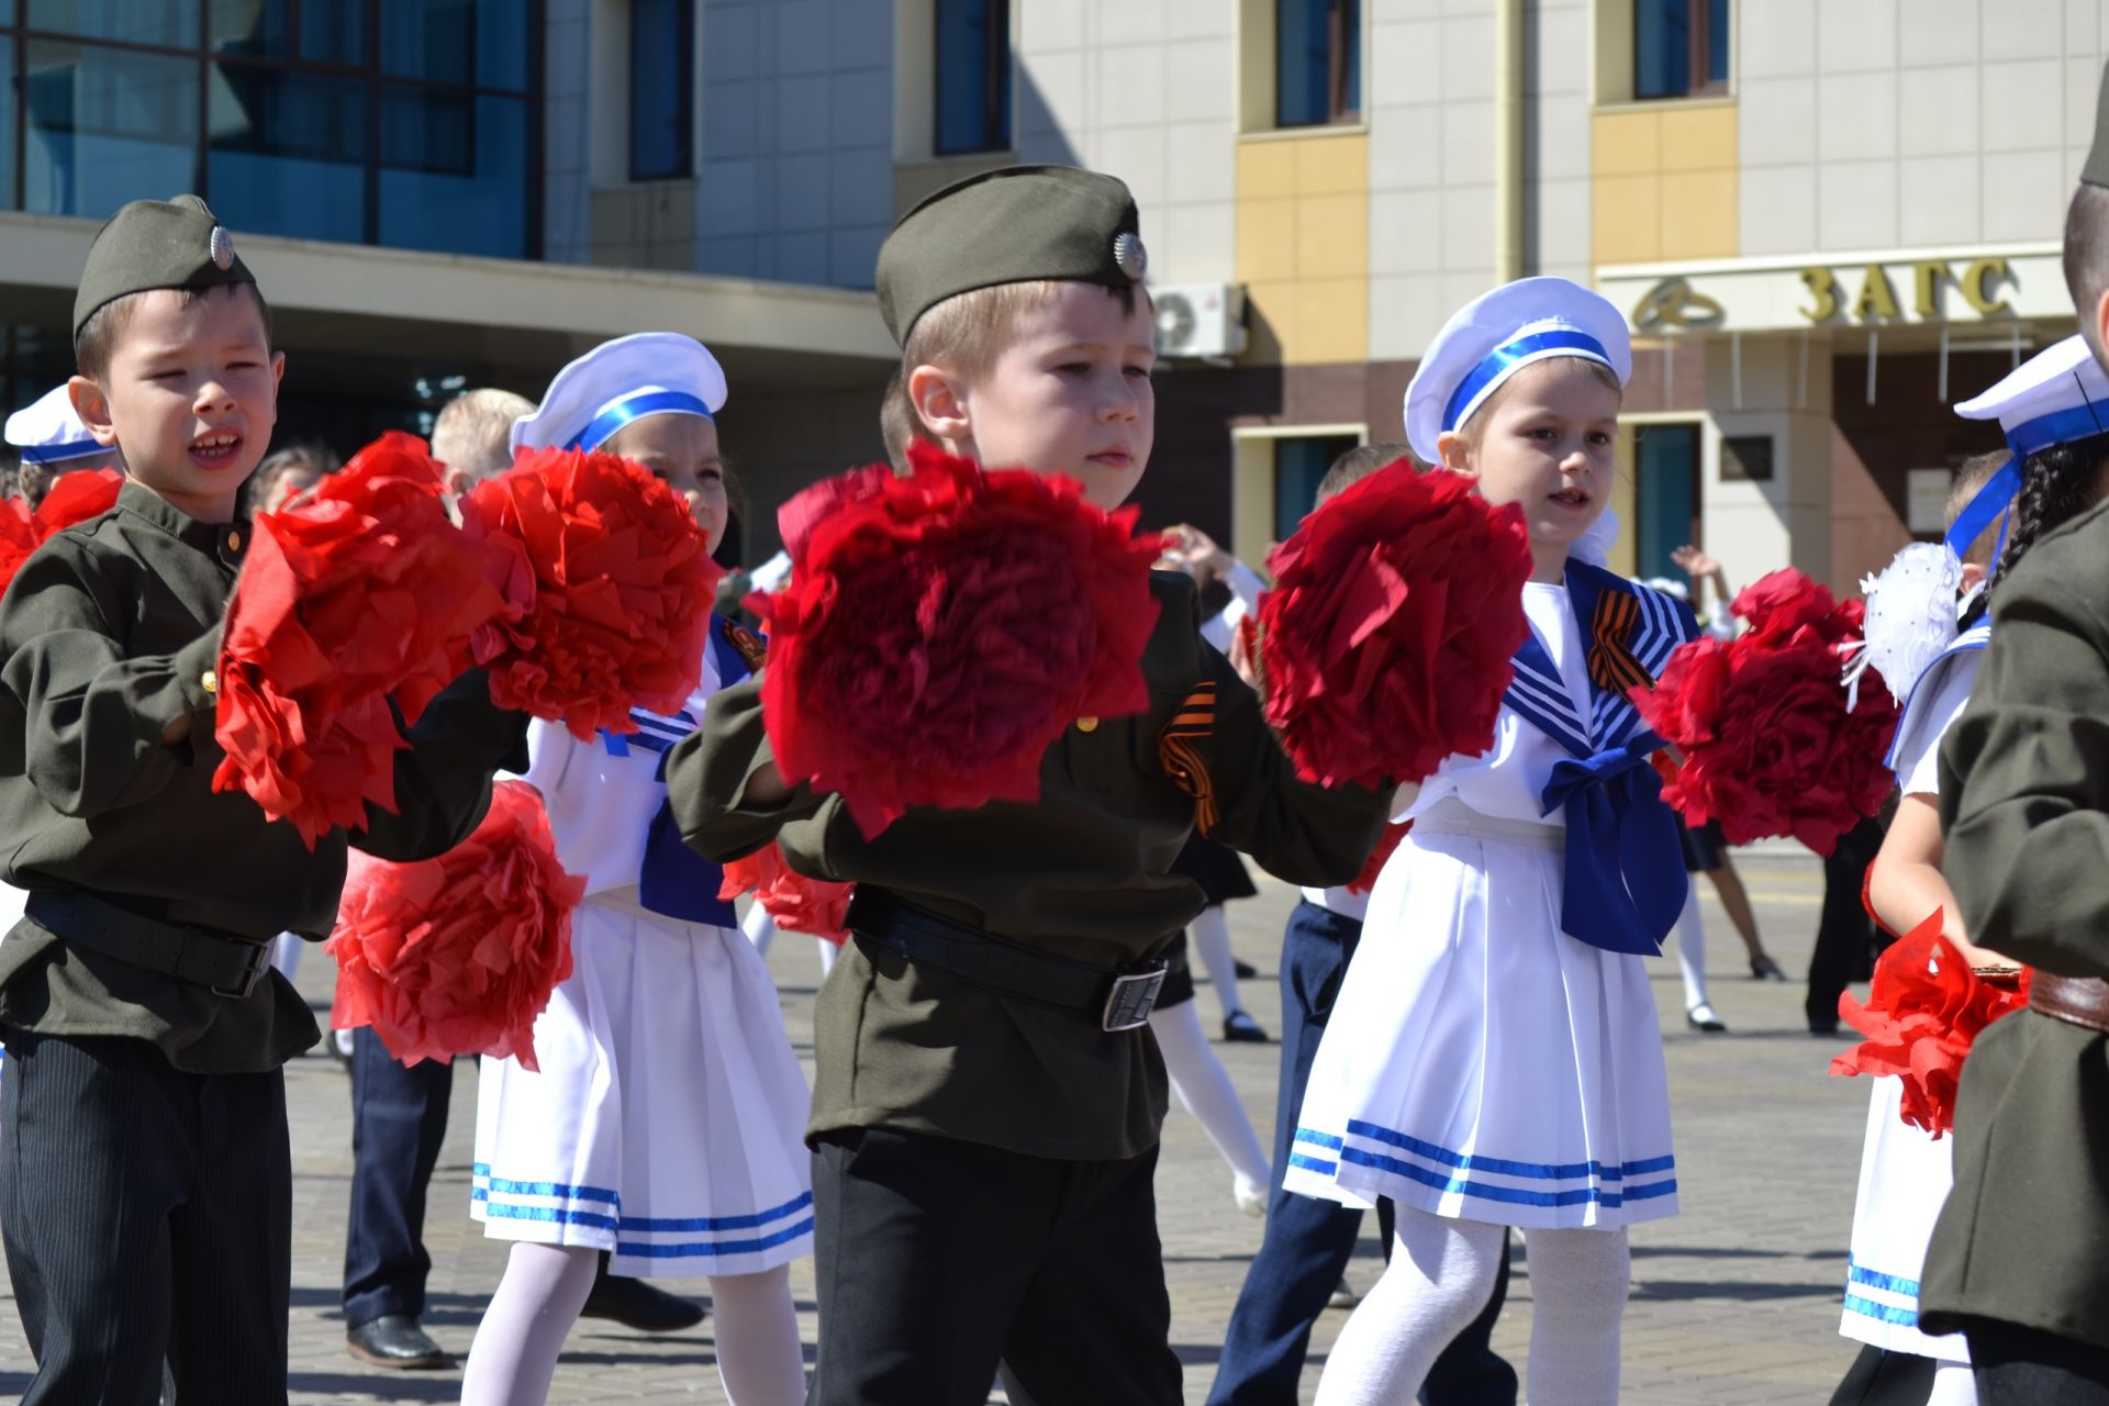
<svg viewBox="0 0 2109 1406">
<path fill-rule="evenodd" d="M 354 850 L 325 944 L 337 959 L 329 1024 L 373 1027 L 405 1065 L 510 1054 L 536 1069 L 534 1020 L 572 974 L 584 894 L 523 782 L 491 786 L 483 824 L 437 860 L 390 864 Z"/>
</svg>

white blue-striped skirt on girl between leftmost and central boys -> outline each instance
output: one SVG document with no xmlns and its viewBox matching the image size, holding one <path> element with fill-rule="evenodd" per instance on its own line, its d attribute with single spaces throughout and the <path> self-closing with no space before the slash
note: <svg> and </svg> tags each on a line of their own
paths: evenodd
<svg viewBox="0 0 2109 1406">
<path fill-rule="evenodd" d="M 776 984 L 732 927 L 595 894 L 536 1020 L 540 1073 L 485 1058 L 470 1216 L 498 1239 L 610 1250 L 635 1277 L 812 1252 L 810 1094 Z"/>
</svg>

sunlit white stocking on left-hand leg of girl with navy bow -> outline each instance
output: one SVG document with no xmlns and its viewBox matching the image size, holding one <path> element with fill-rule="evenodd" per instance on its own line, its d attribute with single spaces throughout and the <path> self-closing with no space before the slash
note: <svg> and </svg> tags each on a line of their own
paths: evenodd
<svg viewBox="0 0 2109 1406">
<path fill-rule="evenodd" d="M 1504 1227 L 1485 1221 L 1400 1206 L 1392 1263 L 1339 1330 L 1318 1379 L 1318 1406 L 1411 1402 L 1443 1349 L 1487 1307 L 1506 1235 Z M 1535 1286 L 1533 1256 L 1533 1292 Z M 1535 1393 L 1531 1406 L 1537 1406 Z"/>
</svg>

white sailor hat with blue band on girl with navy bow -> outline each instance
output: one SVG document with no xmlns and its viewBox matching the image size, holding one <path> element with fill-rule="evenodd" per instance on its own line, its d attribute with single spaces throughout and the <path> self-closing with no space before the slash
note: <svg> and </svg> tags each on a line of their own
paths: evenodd
<svg viewBox="0 0 2109 1406">
<path fill-rule="evenodd" d="M 1428 344 L 1407 386 L 1407 443 L 1440 464 L 1436 438 L 1462 426 L 1502 382 L 1550 356 L 1603 363 L 1624 386 L 1632 375 L 1626 318 L 1567 278 L 1518 278 L 1451 316 Z"/>
</svg>

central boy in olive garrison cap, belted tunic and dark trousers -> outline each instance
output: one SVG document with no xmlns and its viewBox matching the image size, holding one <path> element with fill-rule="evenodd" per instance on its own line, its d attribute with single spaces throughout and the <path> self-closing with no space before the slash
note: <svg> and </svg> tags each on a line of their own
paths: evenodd
<svg viewBox="0 0 2109 1406">
<path fill-rule="evenodd" d="M 1061 472 L 1101 508 L 1143 474 L 1152 316 L 1135 200 L 1105 175 L 1012 167 L 951 185 L 879 251 L 903 344 L 896 413 L 995 466 Z M 823 1406 L 1014 1398 L 1170 1406 L 1179 1362 L 1152 1199 L 1164 1065 L 1145 1020 L 1162 951 L 1202 909 L 1170 873 L 1196 824 L 1297 883 L 1343 883 L 1384 822 L 1362 788 L 1295 780 L 1194 584 L 1156 573 L 1149 708 L 1082 719 L 1040 799 L 913 809 L 865 839 L 841 799 L 776 774 L 753 683 L 713 700 L 666 782 L 715 860 L 770 839 L 856 883 L 820 991 L 816 1149 Z M 1158 763 L 1206 712 L 1208 776 Z"/>
</svg>

